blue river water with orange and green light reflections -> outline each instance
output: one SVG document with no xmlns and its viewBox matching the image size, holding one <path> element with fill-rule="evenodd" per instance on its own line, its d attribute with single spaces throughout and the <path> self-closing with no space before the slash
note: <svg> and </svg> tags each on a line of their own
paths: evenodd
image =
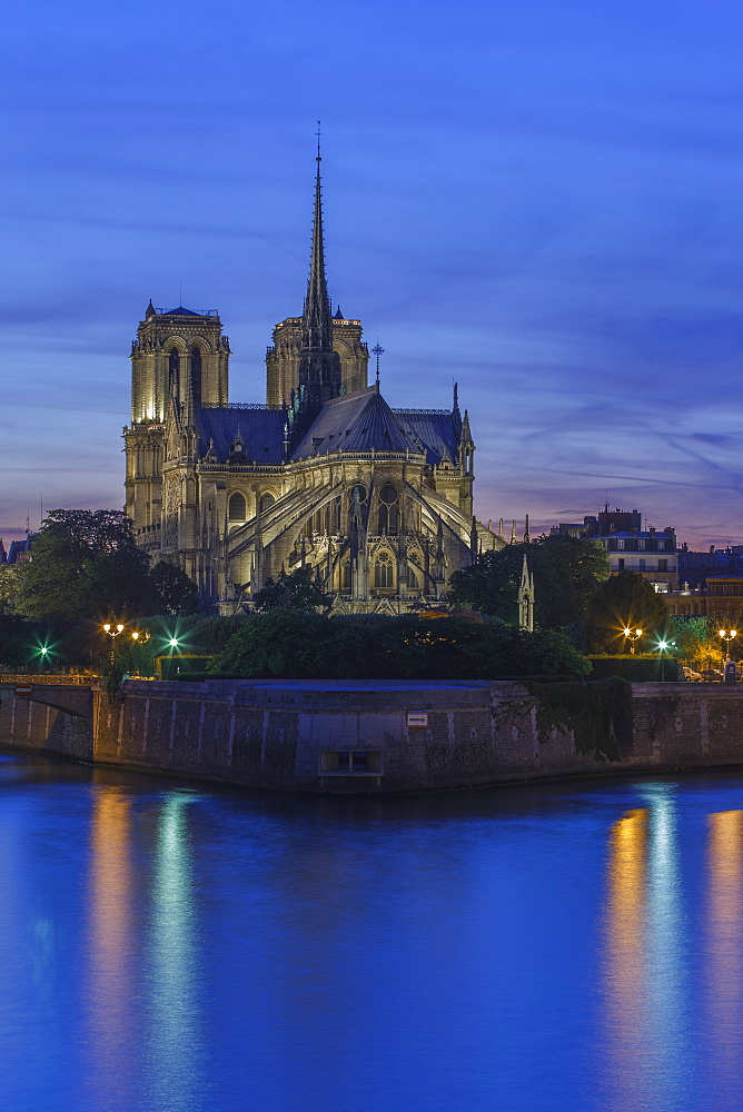
<svg viewBox="0 0 743 1112">
<path fill-rule="evenodd" d="M 743 1106 L 743 776 L 295 798 L 0 755 L 9 1112 Z"/>
</svg>

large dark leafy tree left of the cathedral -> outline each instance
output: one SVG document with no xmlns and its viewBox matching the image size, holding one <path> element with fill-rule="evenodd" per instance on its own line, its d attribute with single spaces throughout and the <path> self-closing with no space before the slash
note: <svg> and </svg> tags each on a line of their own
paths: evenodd
<svg viewBox="0 0 743 1112">
<path fill-rule="evenodd" d="M 115 509 L 53 509 L 19 568 L 19 605 L 30 618 L 136 617 L 157 596 L 149 556 Z"/>
</svg>

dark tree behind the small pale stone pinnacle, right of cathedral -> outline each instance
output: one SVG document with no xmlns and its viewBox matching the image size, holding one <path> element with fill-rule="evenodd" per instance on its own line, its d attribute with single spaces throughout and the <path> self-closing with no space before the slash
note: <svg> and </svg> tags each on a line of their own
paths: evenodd
<svg viewBox="0 0 743 1112">
<path fill-rule="evenodd" d="M 483 553 L 470 567 L 454 573 L 450 599 L 515 623 L 524 556 L 534 575 L 538 627 L 562 629 L 583 620 L 591 594 L 608 576 L 608 557 L 598 540 L 543 536 Z"/>
</svg>

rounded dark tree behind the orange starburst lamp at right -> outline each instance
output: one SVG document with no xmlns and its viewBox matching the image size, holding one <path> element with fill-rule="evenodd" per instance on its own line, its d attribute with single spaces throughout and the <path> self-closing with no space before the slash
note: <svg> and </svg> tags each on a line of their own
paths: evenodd
<svg viewBox="0 0 743 1112">
<path fill-rule="evenodd" d="M 591 597 L 586 635 L 596 653 L 624 653 L 624 628 L 643 631 L 638 647 L 652 646 L 670 631 L 668 607 L 663 595 L 634 572 L 620 572 L 601 584 Z"/>
</svg>

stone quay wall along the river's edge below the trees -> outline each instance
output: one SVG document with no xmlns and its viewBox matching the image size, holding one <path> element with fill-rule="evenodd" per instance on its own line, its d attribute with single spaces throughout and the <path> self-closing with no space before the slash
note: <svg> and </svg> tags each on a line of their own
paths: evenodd
<svg viewBox="0 0 743 1112">
<path fill-rule="evenodd" d="M 426 715 L 425 725 L 408 724 L 409 714 Z M 474 787 L 743 764 L 743 689 L 633 684 L 632 728 L 617 759 L 582 752 L 565 724 L 545 727 L 538 702 L 509 682 L 128 681 L 112 699 L 92 691 L 87 715 L 3 698 L 0 744 L 287 791 Z"/>
</svg>

